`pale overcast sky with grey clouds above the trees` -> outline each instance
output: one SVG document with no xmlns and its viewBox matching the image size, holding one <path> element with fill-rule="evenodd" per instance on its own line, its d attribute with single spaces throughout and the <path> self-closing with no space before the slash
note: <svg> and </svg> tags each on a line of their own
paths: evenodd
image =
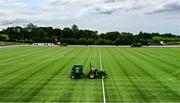
<svg viewBox="0 0 180 103">
<path fill-rule="evenodd" d="M 0 0 L 0 28 L 24 25 L 99 32 L 180 34 L 180 0 Z"/>
</svg>

